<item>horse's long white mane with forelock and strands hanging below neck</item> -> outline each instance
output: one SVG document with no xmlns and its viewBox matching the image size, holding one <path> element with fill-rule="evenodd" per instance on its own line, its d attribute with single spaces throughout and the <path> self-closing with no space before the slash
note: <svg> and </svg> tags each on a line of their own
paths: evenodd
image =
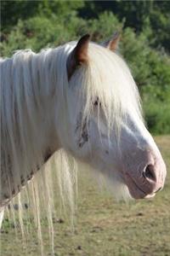
<svg viewBox="0 0 170 256">
<path fill-rule="evenodd" d="M 65 132 L 68 130 L 67 102 L 70 100 L 66 61 L 75 45 L 76 43 L 72 42 L 57 49 L 43 49 L 39 54 L 35 54 L 31 49 L 19 50 L 12 58 L 0 62 L 1 207 L 20 192 L 21 187 L 42 167 L 44 160 L 54 153 L 54 142 L 48 141 L 48 133 L 56 127 L 59 131 L 59 146 L 65 149 L 65 152 L 59 153 L 64 167 L 57 173 L 59 186 L 61 191 L 68 195 L 73 211 L 72 183 L 75 183 L 76 172 L 69 168 L 69 160 L 64 156 L 69 151 L 69 132 Z M 142 119 L 139 93 L 122 58 L 111 53 L 109 49 L 92 43 L 89 44 L 88 55 L 88 66 L 80 67 L 71 82 L 82 84 L 80 97 L 85 99 L 83 117 L 90 116 L 92 102 L 98 96 L 101 104 L 105 106 L 108 131 L 113 125 L 116 125 L 116 130 L 119 131 L 122 116 L 129 112 L 133 112 L 136 119 Z M 55 113 L 51 113 L 52 109 L 56 109 Z M 55 139 L 57 141 L 54 137 Z M 42 177 L 44 198 L 50 198 L 47 212 L 52 230 L 52 213 L 49 212 L 53 209 L 54 195 L 53 186 L 46 175 L 46 172 L 40 172 L 33 180 L 31 190 L 37 204 L 37 223 L 40 225 L 37 186 L 40 183 L 39 178 Z"/>
</svg>

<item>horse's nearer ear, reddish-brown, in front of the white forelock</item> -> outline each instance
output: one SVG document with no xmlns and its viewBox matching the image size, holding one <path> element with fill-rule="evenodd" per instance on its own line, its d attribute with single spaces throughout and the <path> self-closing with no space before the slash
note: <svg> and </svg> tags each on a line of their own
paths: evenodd
<svg viewBox="0 0 170 256">
<path fill-rule="evenodd" d="M 69 55 L 66 66 L 68 79 L 71 79 L 71 75 L 74 73 L 78 65 L 88 62 L 88 44 L 90 41 L 90 35 L 86 34 L 80 38 L 77 46 Z"/>
</svg>

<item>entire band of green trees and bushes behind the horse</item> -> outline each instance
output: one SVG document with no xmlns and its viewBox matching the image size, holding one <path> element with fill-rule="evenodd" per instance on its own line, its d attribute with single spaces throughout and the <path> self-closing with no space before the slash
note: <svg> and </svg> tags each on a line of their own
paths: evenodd
<svg viewBox="0 0 170 256">
<path fill-rule="evenodd" d="M 119 52 L 139 86 L 154 134 L 170 133 L 169 1 L 1 1 L 1 55 L 39 51 L 90 33 L 101 42 L 122 31 Z"/>
</svg>

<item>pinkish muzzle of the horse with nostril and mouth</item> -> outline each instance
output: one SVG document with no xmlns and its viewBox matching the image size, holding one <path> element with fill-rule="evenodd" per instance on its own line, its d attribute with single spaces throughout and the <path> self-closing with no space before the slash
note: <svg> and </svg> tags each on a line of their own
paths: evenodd
<svg viewBox="0 0 170 256">
<path fill-rule="evenodd" d="M 142 161 L 137 171 L 127 170 L 124 172 L 125 183 L 134 199 L 151 198 L 160 191 L 165 183 L 167 174 L 166 166 L 161 154 L 144 153 L 145 160 Z M 134 160 L 134 163 L 137 163 Z M 128 167 L 130 165 L 128 164 Z"/>
</svg>

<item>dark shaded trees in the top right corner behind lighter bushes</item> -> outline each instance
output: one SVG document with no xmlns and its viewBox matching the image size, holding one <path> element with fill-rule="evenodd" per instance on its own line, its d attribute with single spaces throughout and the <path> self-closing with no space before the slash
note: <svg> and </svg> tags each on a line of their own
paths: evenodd
<svg viewBox="0 0 170 256">
<path fill-rule="evenodd" d="M 154 48 L 163 48 L 170 52 L 170 3 L 168 1 L 87 1 L 80 11 L 84 17 L 98 17 L 104 11 L 111 11 L 118 20 L 124 20 L 125 26 L 131 27 L 138 34 L 145 25 L 151 29 L 149 42 Z"/>
</svg>

